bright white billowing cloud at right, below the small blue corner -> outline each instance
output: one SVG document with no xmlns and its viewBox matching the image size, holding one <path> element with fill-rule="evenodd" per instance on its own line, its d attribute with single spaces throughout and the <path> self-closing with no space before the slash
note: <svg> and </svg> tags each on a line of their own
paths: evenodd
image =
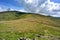
<svg viewBox="0 0 60 40">
<path fill-rule="evenodd" d="M 44 3 L 44 5 L 45 6 L 43 6 L 43 7 L 46 7 L 45 10 L 47 10 L 46 12 L 48 14 L 50 14 L 50 15 L 59 14 L 60 15 L 60 4 L 59 3 L 54 3 L 54 2 L 47 1 L 46 3 Z"/>
</svg>

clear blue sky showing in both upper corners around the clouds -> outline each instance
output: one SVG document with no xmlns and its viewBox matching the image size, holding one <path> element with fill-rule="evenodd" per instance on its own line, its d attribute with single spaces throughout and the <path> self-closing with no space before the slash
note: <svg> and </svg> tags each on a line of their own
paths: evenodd
<svg viewBox="0 0 60 40">
<path fill-rule="evenodd" d="M 51 0 L 52 2 L 60 3 L 60 0 Z M 0 5 L 12 7 L 12 8 L 23 8 L 23 5 L 17 1 L 17 0 L 0 0 Z"/>
</svg>

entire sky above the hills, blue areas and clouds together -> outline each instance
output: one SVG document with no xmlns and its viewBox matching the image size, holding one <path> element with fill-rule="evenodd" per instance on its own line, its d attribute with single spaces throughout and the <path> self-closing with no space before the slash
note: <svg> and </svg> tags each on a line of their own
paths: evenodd
<svg viewBox="0 0 60 40">
<path fill-rule="evenodd" d="M 8 8 L 60 17 L 60 0 L 0 0 L 0 11 L 5 11 Z"/>
</svg>

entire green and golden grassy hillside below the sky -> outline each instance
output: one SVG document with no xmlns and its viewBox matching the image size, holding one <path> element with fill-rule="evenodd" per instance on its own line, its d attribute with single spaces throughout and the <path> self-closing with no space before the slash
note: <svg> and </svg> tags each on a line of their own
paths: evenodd
<svg viewBox="0 0 60 40">
<path fill-rule="evenodd" d="M 0 13 L 0 39 L 34 38 L 35 34 L 49 37 L 39 40 L 52 40 L 51 36 L 60 40 L 60 19 L 17 11 Z"/>
</svg>

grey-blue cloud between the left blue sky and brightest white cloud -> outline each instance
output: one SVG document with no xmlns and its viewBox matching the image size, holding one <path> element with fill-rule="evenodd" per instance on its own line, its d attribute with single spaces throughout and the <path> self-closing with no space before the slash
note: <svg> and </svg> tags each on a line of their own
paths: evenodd
<svg viewBox="0 0 60 40">
<path fill-rule="evenodd" d="M 30 1 L 30 2 L 29 2 Z M 46 0 L 25 0 L 24 8 L 29 12 L 38 12 L 41 4 L 43 4 Z"/>
</svg>

